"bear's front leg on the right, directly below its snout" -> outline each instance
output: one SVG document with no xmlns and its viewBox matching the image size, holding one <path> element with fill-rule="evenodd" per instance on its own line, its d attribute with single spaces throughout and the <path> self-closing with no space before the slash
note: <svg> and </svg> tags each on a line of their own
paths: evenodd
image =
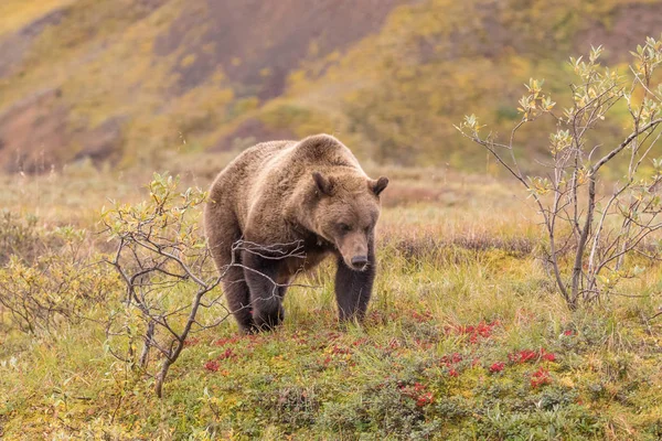
<svg viewBox="0 0 662 441">
<path fill-rule="evenodd" d="M 372 244 L 369 246 L 367 266 L 363 271 L 349 268 L 342 257 L 338 258 L 335 300 L 341 322 L 354 319 L 362 321 L 365 316 L 376 275 L 375 262 Z"/>
</svg>

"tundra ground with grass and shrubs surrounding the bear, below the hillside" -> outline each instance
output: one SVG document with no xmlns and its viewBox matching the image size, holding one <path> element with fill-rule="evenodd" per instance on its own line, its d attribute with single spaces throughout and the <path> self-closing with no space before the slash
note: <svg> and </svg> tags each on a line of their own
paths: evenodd
<svg viewBox="0 0 662 441">
<path fill-rule="evenodd" d="M 572 61 L 562 114 L 528 84 L 517 126 L 559 125 L 540 178 L 508 162 L 515 136 L 459 126 L 524 190 L 369 165 L 392 184 L 365 326 L 338 324 L 322 266 L 290 289 L 281 326 L 237 334 L 200 230 L 202 153 L 178 159 L 201 164 L 180 179 L 89 164 L 2 176 L 0 434 L 660 439 L 661 51 L 647 41 L 622 77 L 599 49 Z M 594 151 L 613 112 L 633 126 Z"/>
</svg>

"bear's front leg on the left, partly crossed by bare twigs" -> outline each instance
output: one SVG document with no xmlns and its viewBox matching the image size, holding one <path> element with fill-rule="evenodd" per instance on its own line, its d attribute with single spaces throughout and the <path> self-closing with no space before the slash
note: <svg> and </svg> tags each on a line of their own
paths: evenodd
<svg viewBox="0 0 662 441">
<path fill-rule="evenodd" d="M 258 330 L 271 330 L 285 319 L 285 287 L 276 283 L 281 262 L 249 251 L 244 251 L 242 257 L 244 277 L 250 291 L 253 322 Z"/>
</svg>

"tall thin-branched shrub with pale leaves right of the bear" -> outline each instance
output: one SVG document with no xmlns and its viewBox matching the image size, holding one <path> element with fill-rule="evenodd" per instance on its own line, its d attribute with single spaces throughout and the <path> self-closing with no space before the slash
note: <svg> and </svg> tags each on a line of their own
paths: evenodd
<svg viewBox="0 0 662 441">
<path fill-rule="evenodd" d="M 643 269 L 628 257 L 656 259 L 659 250 L 644 249 L 644 239 L 662 228 L 662 159 L 653 159 L 662 123 L 662 85 L 655 71 L 662 64 L 662 41 L 647 39 L 632 52 L 629 73 L 621 75 L 599 63 L 601 47 L 588 60 L 570 58 L 577 77 L 570 85 L 572 105 L 555 114 L 555 103 L 543 82 L 531 79 L 519 104 L 521 120 L 502 141 L 481 135 L 478 118 L 467 116 L 457 129 L 483 146 L 530 193 L 547 235 L 547 261 L 570 309 L 613 293 L 617 283 Z M 655 79 L 656 78 L 656 79 Z M 608 128 L 615 106 L 627 108 L 629 135 L 612 146 L 591 143 L 590 133 Z M 558 129 L 549 136 L 544 175 L 528 175 L 519 165 L 519 130 L 546 116 Z M 611 191 L 598 194 L 606 165 L 623 170 Z M 564 258 L 570 254 L 569 259 Z"/>
</svg>

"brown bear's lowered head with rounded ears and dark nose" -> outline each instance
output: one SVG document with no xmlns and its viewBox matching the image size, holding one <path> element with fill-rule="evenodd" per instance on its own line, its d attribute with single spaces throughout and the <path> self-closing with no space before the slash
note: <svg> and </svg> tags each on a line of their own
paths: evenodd
<svg viewBox="0 0 662 441">
<path fill-rule="evenodd" d="M 380 193 L 387 178 L 363 174 L 312 173 L 317 203 L 312 213 L 314 233 L 333 244 L 349 268 L 362 271 L 380 217 Z"/>
</svg>

